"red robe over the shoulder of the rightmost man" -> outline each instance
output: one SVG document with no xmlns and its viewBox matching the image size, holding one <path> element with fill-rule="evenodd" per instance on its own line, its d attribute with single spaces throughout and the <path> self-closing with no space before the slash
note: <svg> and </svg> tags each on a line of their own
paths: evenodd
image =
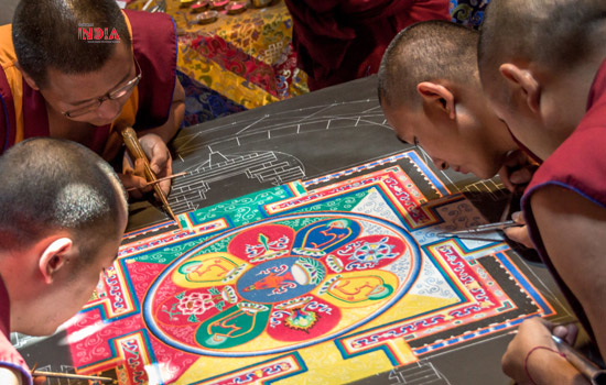
<svg viewBox="0 0 606 385">
<path fill-rule="evenodd" d="M 547 186 L 560 186 L 606 209 L 606 59 L 589 90 L 587 112 L 569 139 L 539 167 L 522 198 L 530 237 L 539 255 L 554 275 L 585 330 L 593 331 L 583 308 L 551 263 L 537 227 L 530 198 Z"/>
</svg>

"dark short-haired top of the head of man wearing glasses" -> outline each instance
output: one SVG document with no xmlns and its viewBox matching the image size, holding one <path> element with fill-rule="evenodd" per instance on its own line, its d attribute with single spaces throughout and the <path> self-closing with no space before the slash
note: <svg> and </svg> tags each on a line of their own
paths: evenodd
<svg viewBox="0 0 606 385">
<path fill-rule="evenodd" d="M 130 34 L 116 0 L 21 0 L 14 12 L 12 40 L 19 65 L 39 87 L 47 69 L 86 74 L 100 69 L 118 44 L 91 44 L 80 38 L 82 25 L 116 29 L 121 44 Z"/>
</svg>

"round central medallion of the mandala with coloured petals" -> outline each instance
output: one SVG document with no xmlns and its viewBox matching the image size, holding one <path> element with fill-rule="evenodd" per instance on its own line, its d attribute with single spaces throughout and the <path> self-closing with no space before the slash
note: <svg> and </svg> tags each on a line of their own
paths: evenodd
<svg viewBox="0 0 606 385">
<path fill-rule="evenodd" d="M 410 289 L 421 264 L 408 232 L 366 215 L 261 220 L 176 258 L 150 287 L 144 320 L 191 353 L 296 350 L 376 318 Z"/>
</svg>

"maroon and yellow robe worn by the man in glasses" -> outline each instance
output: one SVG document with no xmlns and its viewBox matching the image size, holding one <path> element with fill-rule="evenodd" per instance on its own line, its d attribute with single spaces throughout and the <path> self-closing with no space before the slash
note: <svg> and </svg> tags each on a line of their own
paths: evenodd
<svg viewBox="0 0 606 385">
<path fill-rule="evenodd" d="M 126 10 L 125 14 L 130 23 L 134 57 L 143 76 L 117 120 L 129 121 L 136 130 L 160 127 L 169 119 L 173 100 L 176 28 L 165 13 Z M 0 72 L 0 153 L 24 139 L 50 135 L 44 98 L 23 80 L 14 67 L 15 61 L 11 25 L 0 26 L 3 69 Z M 136 117 L 133 111 L 137 111 Z M 115 155 L 121 140 L 111 130 L 111 124 L 93 130 L 95 136 L 90 148 L 101 155 Z M 104 157 L 109 161 L 112 156 Z"/>
</svg>

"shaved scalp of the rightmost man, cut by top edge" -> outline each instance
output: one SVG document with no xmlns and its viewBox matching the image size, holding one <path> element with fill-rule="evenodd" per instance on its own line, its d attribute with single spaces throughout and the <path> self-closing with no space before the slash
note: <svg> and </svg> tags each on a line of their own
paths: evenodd
<svg viewBox="0 0 606 385">
<path fill-rule="evenodd" d="M 502 63 L 573 68 L 604 46 L 605 21 L 604 0 L 491 0 L 478 43 L 483 85 L 501 81 Z"/>
</svg>

